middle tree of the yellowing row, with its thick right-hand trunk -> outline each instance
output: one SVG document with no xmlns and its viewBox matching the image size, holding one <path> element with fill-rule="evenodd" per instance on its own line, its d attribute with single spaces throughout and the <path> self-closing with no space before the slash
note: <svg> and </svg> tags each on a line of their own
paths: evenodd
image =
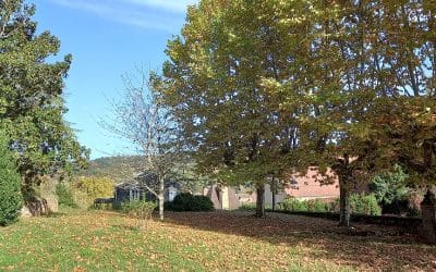
<svg viewBox="0 0 436 272">
<path fill-rule="evenodd" d="M 353 185 L 376 168 L 368 110 L 376 97 L 368 57 L 368 5 L 362 1 L 307 1 L 295 13 L 308 30 L 290 63 L 295 81 L 281 84 L 289 106 L 300 108 L 298 166 L 335 171 L 340 189 L 340 224 L 350 224 Z M 299 97 L 295 97 L 295 90 Z M 292 98 L 290 100 L 289 98 Z M 325 175 L 325 182 L 330 182 Z"/>
</svg>

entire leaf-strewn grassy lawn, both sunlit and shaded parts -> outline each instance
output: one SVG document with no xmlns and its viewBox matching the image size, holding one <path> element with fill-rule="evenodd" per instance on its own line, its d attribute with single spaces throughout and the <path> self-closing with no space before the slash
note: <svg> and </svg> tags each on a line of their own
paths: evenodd
<svg viewBox="0 0 436 272">
<path fill-rule="evenodd" d="M 350 235 L 298 215 L 167 215 L 146 225 L 107 211 L 22 220 L 0 228 L 0 271 L 436 270 L 436 247 L 395 228 Z"/>
</svg>

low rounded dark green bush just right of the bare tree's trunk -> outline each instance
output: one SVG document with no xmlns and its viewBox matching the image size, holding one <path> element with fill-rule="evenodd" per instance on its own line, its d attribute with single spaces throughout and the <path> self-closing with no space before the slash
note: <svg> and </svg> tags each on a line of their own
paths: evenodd
<svg viewBox="0 0 436 272">
<path fill-rule="evenodd" d="M 166 202 L 165 209 L 169 211 L 213 211 L 214 203 L 208 197 L 182 193 L 177 195 L 172 202 Z"/>
</svg>

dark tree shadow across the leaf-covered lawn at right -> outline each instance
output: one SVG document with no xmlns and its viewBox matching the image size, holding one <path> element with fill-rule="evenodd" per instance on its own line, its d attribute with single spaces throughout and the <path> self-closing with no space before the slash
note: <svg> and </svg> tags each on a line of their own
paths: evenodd
<svg viewBox="0 0 436 272">
<path fill-rule="evenodd" d="M 436 247 L 420 244 L 401 227 L 354 224 L 302 215 L 267 213 L 257 219 L 251 212 L 167 212 L 167 224 L 229 235 L 247 236 L 271 244 L 316 248 L 311 258 L 328 259 L 364 270 L 436 270 Z"/>
</svg>

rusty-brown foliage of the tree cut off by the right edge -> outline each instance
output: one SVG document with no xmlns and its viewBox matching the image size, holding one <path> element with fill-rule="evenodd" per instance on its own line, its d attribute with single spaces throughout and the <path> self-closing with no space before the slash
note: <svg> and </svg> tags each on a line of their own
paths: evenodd
<svg viewBox="0 0 436 272">
<path fill-rule="evenodd" d="M 436 3 L 376 5 L 377 76 L 384 86 L 375 111 L 379 141 L 421 187 L 436 181 Z M 434 198 L 434 197 L 433 197 Z"/>
</svg>

